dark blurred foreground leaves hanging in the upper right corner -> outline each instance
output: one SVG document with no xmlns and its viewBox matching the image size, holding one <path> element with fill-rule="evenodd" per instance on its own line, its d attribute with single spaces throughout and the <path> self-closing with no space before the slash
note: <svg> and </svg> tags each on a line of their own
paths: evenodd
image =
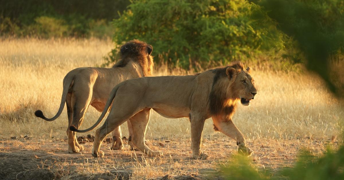
<svg viewBox="0 0 344 180">
<path fill-rule="evenodd" d="M 343 0 L 255 0 L 277 28 L 292 37 L 306 59 L 307 69 L 318 73 L 332 92 L 344 96 L 344 73 L 333 65 L 344 64 Z M 340 62 L 338 64 L 338 62 Z"/>
</svg>

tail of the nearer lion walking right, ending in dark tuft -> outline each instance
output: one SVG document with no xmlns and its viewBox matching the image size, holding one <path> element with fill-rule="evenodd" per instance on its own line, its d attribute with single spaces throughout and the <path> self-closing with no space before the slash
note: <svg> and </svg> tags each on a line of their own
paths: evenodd
<svg viewBox="0 0 344 180">
<path fill-rule="evenodd" d="M 85 130 L 78 130 L 78 129 L 75 128 L 74 125 L 71 125 L 71 126 L 69 127 L 69 130 L 75 131 L 75 132 L 88 132 L 88 131 L 94 130 L 94 129 L 100 124 L 100 122 L 103 121 L 103 119 L 104 119 L 106 113 L 108 112 L 108 110 L 109 110 L 109 108 L 110 108 L 110 106 L 111 106 L 111 104 L 112 104 L 112 101 L 114 100 L 114 98 L 115 98 L 115 96 L 116 96 L 116 93 L 117 93 L 117 90 L 118 90 L 119 87 L 120 87 L 120 86 L 117 85 L 117 86 L 115 86 L 115 87 L 112 89 L 112 91 L 111 91 L 111 93 L 110 93 L 110 96 L 109 96 L 108 100 L 106 101 L 106 104 L 105 104 L 105 107 L 104 107 L 103 112 L 101 113 L 101 115 L 100 115 L 99 119 L 97 120 L 97 122 L 96 122 L 95 124 L 93 124 L 92 127 L 88 128 L 88 129 L 85 129 Z"/>
</svg>

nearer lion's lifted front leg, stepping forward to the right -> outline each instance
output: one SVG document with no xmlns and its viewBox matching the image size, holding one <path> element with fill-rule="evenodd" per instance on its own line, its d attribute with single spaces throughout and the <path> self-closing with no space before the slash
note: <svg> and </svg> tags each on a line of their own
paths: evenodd
<svg viewBox="0 0 344 180">
<path fill-rule="evenodd" d="M 213 117 L 214 129 L 220 131 L 232 139 L 236 140 L 238 145 L 238 153 L 245 156 L 251 156 L 253 151 L 246 147 L 243 133 L 235 126 L 232 119 L 226 119 L 221 116 Z"/>
</svg>

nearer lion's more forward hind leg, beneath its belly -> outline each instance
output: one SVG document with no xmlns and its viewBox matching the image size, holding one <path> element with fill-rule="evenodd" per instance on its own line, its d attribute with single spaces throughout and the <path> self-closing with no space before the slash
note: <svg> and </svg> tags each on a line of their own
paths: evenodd
<svg viewBox="0 0 344 180">
<path fill-rule="evenodd" d="M 148 156 L 163 156 L 161 151 L 153 151 L 144 143 L 147 125 L 149 122 L 150 109 L 143 109 L 135 116 L 130 118 L 130 123 L 133 128 L 133 136 L 131 142 L 143 153 Z"/>
</svg>

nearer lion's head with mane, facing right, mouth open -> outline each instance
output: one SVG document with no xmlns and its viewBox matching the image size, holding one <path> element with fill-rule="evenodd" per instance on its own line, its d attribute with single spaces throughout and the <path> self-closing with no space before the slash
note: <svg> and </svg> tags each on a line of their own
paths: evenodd
<svg viewBox="0 0 344 180">
<path fill-rule="evenodd" d="M 233 114 L 238 100 L 244 106 L 250 104 L 250 100 L 257 94 L 257 89 L 249 71 L 250 68 L 245 69 L 241 62 L 212 70 L 215 75 L 209 95 L 209 107 L 213 115 L 222 112 Z"/>
</svg>

